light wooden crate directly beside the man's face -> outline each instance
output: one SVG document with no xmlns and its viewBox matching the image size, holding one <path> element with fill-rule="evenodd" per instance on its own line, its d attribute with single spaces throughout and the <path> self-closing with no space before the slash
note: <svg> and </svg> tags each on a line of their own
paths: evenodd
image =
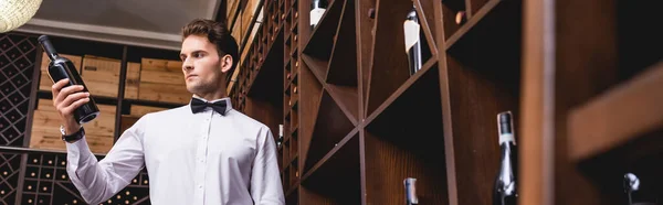
<svg viewBox="0 0 663 205">
<path fill-rule="evenodd" d="M 143 58 L 138 99 L 188 104 L 191 93 L 185 84 L 182 62 Z"/>
</svg>

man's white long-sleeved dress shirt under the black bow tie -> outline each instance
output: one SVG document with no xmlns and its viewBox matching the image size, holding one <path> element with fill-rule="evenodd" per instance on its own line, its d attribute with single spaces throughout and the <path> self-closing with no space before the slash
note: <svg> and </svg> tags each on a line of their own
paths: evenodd
<svg viewBox="0 0 663 205">
<path fill-rule="evenodd" d="M 187 105 L 141 117 L 98 162 L 85 138 L 67 143 L 72 183 L 99 204 L 146 166 L 151 204 L 285 204 L 272 132 L 220 100 L 225 116 Z"/>
</svg>

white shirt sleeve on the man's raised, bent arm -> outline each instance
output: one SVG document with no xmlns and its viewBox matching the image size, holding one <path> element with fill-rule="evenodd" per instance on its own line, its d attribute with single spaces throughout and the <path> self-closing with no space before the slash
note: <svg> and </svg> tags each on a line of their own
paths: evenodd
<svg viewBox="0 0 663 205">
<path fill-rule="evenodd" d="M 143 118 L 127 129 L 97 161 L 85 138 L 66 143 L 66 172 L 87 204 L 101 204 L 126 187 L 143 170 Z"/>
</svg>

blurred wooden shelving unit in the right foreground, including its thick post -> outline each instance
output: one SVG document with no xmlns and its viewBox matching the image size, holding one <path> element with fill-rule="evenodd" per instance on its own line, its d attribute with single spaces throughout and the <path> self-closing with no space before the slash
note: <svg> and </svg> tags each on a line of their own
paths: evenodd
<svg viewBox="0 0 663 205">
<path fill-rule="evenodd" d="M 629 172 L 660 203 L 662 3 L 525 6 L 522 204 L 627 204 Z"/>
</svg>

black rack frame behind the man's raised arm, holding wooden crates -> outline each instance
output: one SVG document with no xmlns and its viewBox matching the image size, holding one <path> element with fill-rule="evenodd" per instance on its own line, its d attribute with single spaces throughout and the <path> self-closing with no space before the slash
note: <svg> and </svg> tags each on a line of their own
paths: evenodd
<svg viewBox="0 0 663 205">
<path fill-rule="evenodd" d="M 0 35 L 0 204 L 84 204 L 65 172 L 66 152 L 29 148 L 34 110 L 40 100 L 52 99 L 50 90 L 39 89 L 42 50 L 36 37 L 36 34 L 17 32 Z M 162 108 L 182 106 L 126 99 L 124 96 L 129 62 L 140 63 L 143 57 L 177 61 L 179 52 L 50 37 L 61 54 L 122 60 L 117 97 L 93 94 L 98 105 L 117 107 L 113 117 L 115 140 L 122 134 L 122 116 L 130 112 L 131 105 Z M 102 159 L 105 153 L 95 154 Z M 149 179 L 144 170 L 126 188 L 104 204 L 149 204 L 148 184 Z"/>
</svg>

